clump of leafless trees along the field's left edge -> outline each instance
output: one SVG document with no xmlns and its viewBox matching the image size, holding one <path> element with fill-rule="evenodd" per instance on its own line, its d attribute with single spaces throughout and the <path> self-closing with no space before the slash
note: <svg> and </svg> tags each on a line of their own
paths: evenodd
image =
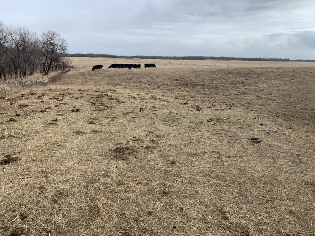
<svg viewBox="0 0 315 236">
<path fill-rule="evenodd" d="M 0 21 L 0 80 L 8 76 L 23 79 L 35 72 L 48 75 L 53 70 L 65 70 L 68 43 L 55 31 L 41 35 L 27 27 L 8 27 Z"/>
</svg>

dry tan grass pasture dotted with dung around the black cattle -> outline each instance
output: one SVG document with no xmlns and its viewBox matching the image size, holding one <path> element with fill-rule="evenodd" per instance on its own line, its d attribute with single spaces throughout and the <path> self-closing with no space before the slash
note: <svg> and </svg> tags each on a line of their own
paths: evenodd
<svg viewBox="0 0 315 236">
<path fill-rule="evenodd" d="M 1 82 L 0 235 L 315 235 L 314 63 L 72 61 Z"/>
</svg>

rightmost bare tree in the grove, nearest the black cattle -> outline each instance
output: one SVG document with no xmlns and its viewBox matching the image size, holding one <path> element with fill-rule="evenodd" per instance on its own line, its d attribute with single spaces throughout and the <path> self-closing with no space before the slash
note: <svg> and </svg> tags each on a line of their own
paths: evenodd
<svg viewBox="0 0 315 236">
<path fill-rule="evenodd" d="M 59 33 L 56 31 L 42 32 L 40 48 L 41 56 L 39 59 L 42 66 L 41 72 L 44 75 L 48 75 L 54 67 L 59 68 L 60 65 L 64 67 L 68 43 Z"/>
</svg>

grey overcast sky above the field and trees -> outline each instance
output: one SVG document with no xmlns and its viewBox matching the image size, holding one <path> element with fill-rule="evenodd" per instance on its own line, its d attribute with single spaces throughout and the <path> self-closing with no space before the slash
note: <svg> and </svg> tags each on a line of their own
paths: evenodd
<svg viewBox="0 0 315 236">
<path fill-rule="evenodd" d="M 0 0 L 5 25 L 69 53 L 315 59 L 315 0 Z"/>
</svg>

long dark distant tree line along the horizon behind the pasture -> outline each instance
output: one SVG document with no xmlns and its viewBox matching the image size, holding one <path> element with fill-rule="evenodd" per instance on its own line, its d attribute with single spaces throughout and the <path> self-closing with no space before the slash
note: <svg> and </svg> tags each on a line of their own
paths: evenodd
<svg viewBox="0 0 315 236">
<path fill-rule="evenodd" d="M 94 54 L 94 53 L 74 53 L 68 54 L 69 57 L 107 57 L 107 58 L 124 58 L 124 59 L 167 59 L 167 60 L 242 60 L 242 61 L 311 61 L 315 62 L 315 60 L 290 60 L 289 58 L 271 58 L 271 57 L 256 57 L 256 58 L 246 58 L 246 57 L 205 57 L 205 56 L 116 56 L 110 54 Z"/>
</svg>

